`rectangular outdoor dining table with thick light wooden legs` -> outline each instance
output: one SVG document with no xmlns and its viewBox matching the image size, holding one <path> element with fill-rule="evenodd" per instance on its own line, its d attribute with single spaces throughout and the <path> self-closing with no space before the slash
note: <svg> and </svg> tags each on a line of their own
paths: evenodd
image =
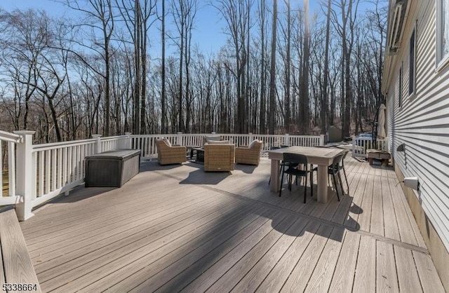
<svg viewBox="0 0 449 293">
<path fill-rule="evenodd" d="M 302 154 L 307 156 L 309 164 L 318 165 L 316 200 L 319 203 L 328 201 L 328 165 L 332 164 L 333 158 L 342 154 L 344 150 L 325 147 L 286 147 L 268 151 L 268 158 L 272 160 L 271 191 L 281 189 L 279 180 L 279 162 L 283 159 L 283 153 Z"/>
</svg>

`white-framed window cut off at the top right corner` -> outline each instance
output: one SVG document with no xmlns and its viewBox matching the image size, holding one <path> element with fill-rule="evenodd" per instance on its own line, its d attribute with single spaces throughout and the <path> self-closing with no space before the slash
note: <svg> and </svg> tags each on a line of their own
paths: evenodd
<svg viewBox="0 0 449 293">
<path fill-rule="evenodd" d="M 449 1 L 436 0 L 436 66 L 449 60 Z"/>
</svg>

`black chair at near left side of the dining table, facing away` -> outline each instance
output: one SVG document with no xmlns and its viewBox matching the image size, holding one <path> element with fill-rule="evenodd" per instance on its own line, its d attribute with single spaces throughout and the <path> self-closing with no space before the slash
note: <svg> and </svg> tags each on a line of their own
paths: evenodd
<svg viewBox="0 0 449 293">
<path fill-rule="evenodd" d="M 283 163 L 288 166 L 287 170 L 282 168 L 281 175 L 281 189 L 279 190 L 279 196 L 282 195 L 282 184 L 283 184 L 283 175 L 288 175 L 288 190 L 292 190 L 292 182 L 293 176 L 296 177 L 304 177 L 304 203 L 306 203 L 306 195 L 307 195 L 307 177 L 311 170 L 308 170 L 307 156 L 301 154 L 292 154 L 292 153 L 283 153 Z M 302 167 L 300 167 L 300 165 Z M 295 167 L 293 167 L 295 166 Z M 313 182 L 310 182 L 310 193 L 313 196 Z"/>
</svg>

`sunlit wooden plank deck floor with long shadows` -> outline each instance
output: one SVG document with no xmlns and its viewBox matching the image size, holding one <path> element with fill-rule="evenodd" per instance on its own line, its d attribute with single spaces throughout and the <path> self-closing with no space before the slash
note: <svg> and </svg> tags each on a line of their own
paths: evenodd
<svg viewBox="0 0 449 293">
<path fill-rule="evenodd" d="M 304 204 L 301 186 L 269 191 L 267 158 L 144 162 L 21 228 L 43 292 L 444 292 L 394 171 L 345 163 L 349 195 Z"/>
</svg>

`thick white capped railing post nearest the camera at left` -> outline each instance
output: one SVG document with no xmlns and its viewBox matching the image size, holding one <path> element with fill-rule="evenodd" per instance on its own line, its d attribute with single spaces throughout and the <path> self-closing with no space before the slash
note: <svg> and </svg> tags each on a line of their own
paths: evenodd
<svg viewBox="0 0 449 293">
<path fill-rule="evenodd" d="M 17 144 L 17 187 L 16 192 L 21 196 L 20 203 L 15 205 L 15 213 L 19 221 L 25 221 L 33 216 L 31 212 L 33 184 L 36 180 L 33 178 L 33 135 L 35 131 L 15 131 L 16 135 L 22 135 L 23 142 Z"/>
</svg>

